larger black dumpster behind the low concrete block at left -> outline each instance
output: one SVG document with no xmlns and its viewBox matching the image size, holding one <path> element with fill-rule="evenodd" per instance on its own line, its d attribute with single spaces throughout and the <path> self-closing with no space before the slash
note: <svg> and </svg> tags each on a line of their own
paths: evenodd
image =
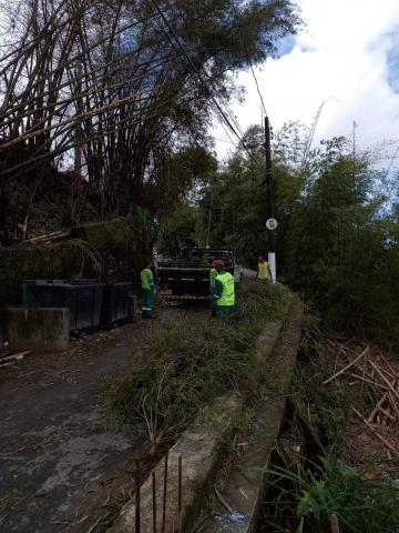
<svg viewBox="0 0 399 533">
<path fill-rule="evenodd" d="M 102 283 L 34 280 L 29 285 L 29 301 L 34 308 L 68 308 L 71 330 L 99 328 L 103 286 Z"/>
</svg>

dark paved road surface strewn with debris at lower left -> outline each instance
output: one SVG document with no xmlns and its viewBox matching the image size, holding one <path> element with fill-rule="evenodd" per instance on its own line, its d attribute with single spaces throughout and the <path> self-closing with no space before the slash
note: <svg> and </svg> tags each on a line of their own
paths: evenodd
<svg viewBox="0 0 399 533">
<path fill-rule="evenodd" d="M 156 321 L 35 353 L 0 374 L 0 531 L 88 531 L 129 474 L 145 439 L 95 424 L 102 391 L 140 364 Z"/>
</svg>

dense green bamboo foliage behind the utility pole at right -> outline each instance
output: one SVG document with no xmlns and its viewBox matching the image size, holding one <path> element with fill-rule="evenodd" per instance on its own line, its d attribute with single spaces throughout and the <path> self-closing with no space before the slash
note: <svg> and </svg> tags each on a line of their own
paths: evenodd
<svg viewBox="0 0 399 533">
<path fill-rule="evenodd" d="M 399 344 L 399 221 L 387 210 L 387 178 L 368 153 L 345 138 L 323 141 L 304 159 L 306 130 L 289 123 L 273 147 L 279 279 L 299 291 L 331 331 L 385 338 Z M 260 143 L 250 128 L 246 141 Z M 235 249 L 256 266 L 266 254 L 265 157 L 242 149 L 215 181 L 211 244 Z M 203 199 L 208 213 L 209 194 Z"/>
</svg>

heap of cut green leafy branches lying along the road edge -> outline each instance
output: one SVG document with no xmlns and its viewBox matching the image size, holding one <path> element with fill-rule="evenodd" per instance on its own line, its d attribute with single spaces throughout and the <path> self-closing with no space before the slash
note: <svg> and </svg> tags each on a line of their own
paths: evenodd
<svg viewBox="0 0 399 533">
<path fill-rule="evenodd" d="M 176 436 L 217 395 L 257 389 L 256 339 L 267 321 L 285 318 L 291 293 L 256 280 L 237 292 L 229 328 L 208 315 L 166 320 L 144 350 L 145 366 L 110 393 L 108 426 L 144 422 L 155 445 Z"/>
</svg>

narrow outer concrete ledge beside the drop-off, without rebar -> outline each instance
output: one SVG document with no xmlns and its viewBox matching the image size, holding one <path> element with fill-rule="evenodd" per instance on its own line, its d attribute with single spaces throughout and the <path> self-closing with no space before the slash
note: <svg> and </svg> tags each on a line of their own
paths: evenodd
<svg viewBox="0 0 399 533">
<path fill-rule="evenodd" d="M 203 533 L 250 533 L 256 526 L 267 482 L 265 469 L 269 465 L 284 422 L 300 341 L 303 311 L 301 302 L 294 301 L 287 328 L 275 350 L 273 379 L 276 380 L 276 386 L 256 405 L 248 449 L 229 472 L 222 491 L 223 501 L 231 511 L 227 512 L 219 504 L 215 505 L 211 521 L 202 529 Z"/>
</svg>

